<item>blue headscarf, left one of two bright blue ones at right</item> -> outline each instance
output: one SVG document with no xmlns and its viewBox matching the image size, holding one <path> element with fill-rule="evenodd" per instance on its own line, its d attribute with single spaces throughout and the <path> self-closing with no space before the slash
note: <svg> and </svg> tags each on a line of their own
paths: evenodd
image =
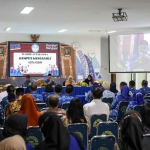
<svg viewBox="0 0 150 150">
<path fill-rule="evenodd" d="M 124 85 L 121 89 L 121 94 L 118 95 L 118 102 L 122 100 L 128 100 L 131 101 L 132 97 L 129 95 L 129 87 L 127 85 Z"/>
</svg>

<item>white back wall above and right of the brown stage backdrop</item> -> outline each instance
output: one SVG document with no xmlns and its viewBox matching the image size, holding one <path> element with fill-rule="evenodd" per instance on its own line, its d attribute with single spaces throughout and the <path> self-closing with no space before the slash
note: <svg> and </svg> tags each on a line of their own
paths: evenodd
<svg viewBox="0 0 150 150">
<path fill-rule="evenodd" d="M 5 41 L 29 41 L 30 42 L 31 40 L 30 40 L 30 35 L 28 34 L 0 34 L 0 42 L 5 42 Z M 96 58 L 97 63 L 99 64 L 99 66 L 101 66 L 100 37 L 41 35 L 40 40 L 38 42 L 60 42 L 60 43 L 64 43 L 70 46 L 72 46 L 74 43 L 78 43 L 77 50 L 82 51 L 82 53 L 85 56 L 91 59 Z M 101 70 L 99 70 L 99 76 L 101 76 Z"/>
</svg>

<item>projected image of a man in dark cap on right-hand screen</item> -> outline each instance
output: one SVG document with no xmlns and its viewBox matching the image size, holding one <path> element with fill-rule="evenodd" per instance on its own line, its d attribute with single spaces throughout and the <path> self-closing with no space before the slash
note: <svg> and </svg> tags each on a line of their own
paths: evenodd
<svg viewBox="0 0 150 150">
<path fill-rule="evenodd" d="M 109 38 L 110 72 L 150 72 L 150 34 Z"/>
</svg>

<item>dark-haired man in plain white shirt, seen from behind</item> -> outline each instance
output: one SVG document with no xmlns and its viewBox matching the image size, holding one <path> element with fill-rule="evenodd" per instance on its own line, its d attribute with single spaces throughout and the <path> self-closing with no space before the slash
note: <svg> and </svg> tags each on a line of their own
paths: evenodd
<svg viewBox="0 0 150 150">
<path fill-rule="evenodd" d="M 109 117 L 109 106 L 106 103 L 103 103 L 101 101 L 101 98 L 103 96 L 103 91 L 100 88 L 94 88 L 92 90 L 92 97 L 93 100 L 84 105 L 84 115 L 89 117 L 89 119 L 92 117 L 92 115 L 100 115 L 100 114 L 106 114 L 107 120 Z"/>
</svg>

